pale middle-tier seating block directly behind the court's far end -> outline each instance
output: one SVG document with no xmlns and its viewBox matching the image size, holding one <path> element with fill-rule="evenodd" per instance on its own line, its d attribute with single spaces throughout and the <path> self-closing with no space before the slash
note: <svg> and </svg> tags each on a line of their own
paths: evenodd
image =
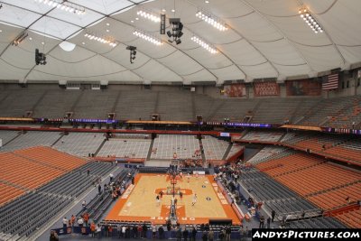
<svg viewBox="0 0 361 241">
<path fill-rule="evenodd" d="M 154 139 L 151 159 L 191 159 L 199 153 L 195 135 L 159 134 Z"/>
</svg>

